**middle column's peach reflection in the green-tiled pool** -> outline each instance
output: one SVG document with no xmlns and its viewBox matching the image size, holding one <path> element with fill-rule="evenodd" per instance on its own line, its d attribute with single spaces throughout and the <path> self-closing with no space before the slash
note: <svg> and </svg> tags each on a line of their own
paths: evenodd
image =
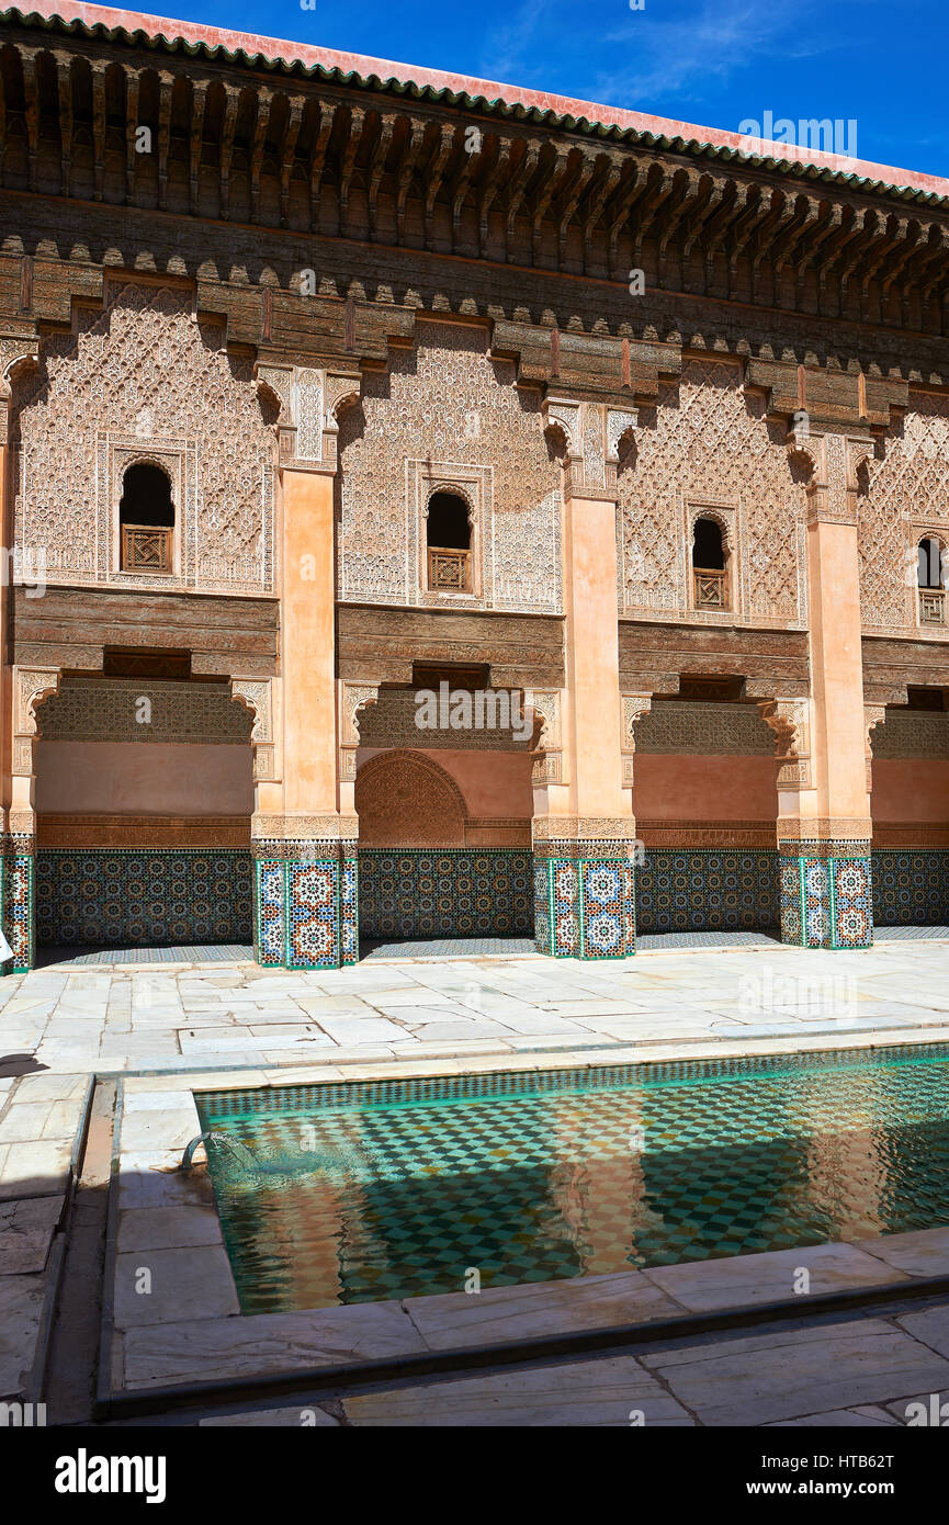
<svg viewBox="0 0 949 1525">
<path fill-rule="evenodd" d="M 638 1264 L 638 1235 L 658 1222 L 645 1202 L 644 1101 L 633 1087 L 549 1098 L 549 1194 L 575 1246 L 578 1275 Z"/>
</svg>

